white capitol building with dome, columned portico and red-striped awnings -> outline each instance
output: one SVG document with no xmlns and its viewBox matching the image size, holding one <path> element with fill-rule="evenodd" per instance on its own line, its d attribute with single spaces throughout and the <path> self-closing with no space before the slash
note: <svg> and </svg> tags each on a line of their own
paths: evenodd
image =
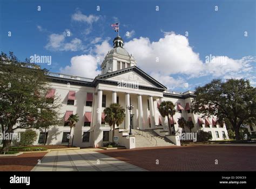
<svg viewBox="0 0 256 189">
<path fill-rule="evenodd" d="M 192 120 L 192 132 L 203 130 L 211 132 L 212 140 L 228 138 L 226 126 L 220 126 L 215 118 L 201 118 L 190 111 L 193 92 L 174 93 L 143 70 L 137 67 L 136 60 L 123 48 L 120 37 L 113 40 L 113 49 L 101 64 L 102 74 L 94 79 L 49 73 L 52 90 L 48 98 L 59 96 L 62 102 L 62 124 L 52 126 L 47 131 L 46 144 L 68 144 L 70 127 L 66 122 L 70 114 L 78 114 L 79 122 L 73 127 L 72 143 L 78 147 L 98 147 L 112 140 L 112 127 L 104 122 L 104 109 L 111 103 L 126 108 L 133 105 L 130 112 L 126 109 L 125 121 L 115 130 L 118 143 L 127 149 L 143 146 L 180 145 L 178 136 L 170 136 L 167 131 L 167 117 L 161 117 L 159 104 L 170 100 L 176 113 L 170 119 L 178 130 L 178 118 Z M 130 123 L 131 120 L 131 123 Z M 130 125 L 133 135 L 129 137 Z M 20 130 L 21 131 L 21 130 Z M 190 132 L 185 127 L 186 132 Z M 38 132 L 36 144 L 44 142 L 44 133 Z"/>
</svg>

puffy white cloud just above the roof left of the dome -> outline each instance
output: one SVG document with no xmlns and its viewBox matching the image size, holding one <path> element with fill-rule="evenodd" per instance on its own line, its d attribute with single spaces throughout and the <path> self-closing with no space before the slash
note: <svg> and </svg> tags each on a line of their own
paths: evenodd
<svg viewBox="0 0 256 189">
<path fill-rule="evenodd" d="M 87 78 L 95 78 L 100 73 L 97 70 L 96 57 L 92 55 L 75 56 L 70 62 L 71 65 L 60 68 L 60 72 Z"/>
</svg>

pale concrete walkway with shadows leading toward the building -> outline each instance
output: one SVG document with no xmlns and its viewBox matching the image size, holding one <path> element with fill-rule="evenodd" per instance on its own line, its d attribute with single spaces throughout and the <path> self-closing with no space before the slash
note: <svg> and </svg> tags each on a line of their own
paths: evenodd
<svg viewBox="0 0 256 189">
<path fill-rule="evenodd" d="M 97 149 L 98 151 L 99 149 Z M 31 171 L 147 171 L 95 149 L 48 152 Z"/>
</svg>

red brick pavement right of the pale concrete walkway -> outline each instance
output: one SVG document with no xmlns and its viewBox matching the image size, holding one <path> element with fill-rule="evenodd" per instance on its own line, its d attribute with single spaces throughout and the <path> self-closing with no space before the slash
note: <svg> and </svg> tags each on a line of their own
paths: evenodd
<svg viewBox="0 0 256 189">
<path fill-rule="evenodd" d="M 255 146 L 144 147 L 98 152 L 149 171 L 256 171 Z"/>
</svg>

